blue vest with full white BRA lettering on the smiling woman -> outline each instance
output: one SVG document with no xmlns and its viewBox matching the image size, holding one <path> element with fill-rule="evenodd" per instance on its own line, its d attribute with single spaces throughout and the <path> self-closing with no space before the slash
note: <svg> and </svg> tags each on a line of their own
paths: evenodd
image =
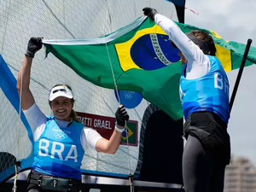
<svg viewBox="0 0 256 192">
<path fill-rule="evenodd" d="M 83 128 L 84 125 L 76 121 L 67 127 L 59 127 L 55 117 L 48 117 L 43 134 L 35 142 L 32 169 L 45 175 L 81 180 L 84 148 L 80 137 Z"/>
</svg>

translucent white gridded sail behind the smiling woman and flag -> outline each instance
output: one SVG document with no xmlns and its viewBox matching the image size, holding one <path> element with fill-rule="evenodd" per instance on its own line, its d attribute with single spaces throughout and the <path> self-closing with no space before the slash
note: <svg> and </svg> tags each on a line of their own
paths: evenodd
<svg viewBox="0 0 256 192">
<path fill-rule="evenodd" d="M 45 39 L 98 38 L 118 30 L 143 15 L 144 7 L 154 7 L 163 15 L 177 20 L 176 9 L 165 0 L 5 0 L 0 2 L 0 53 L 17 78 L 26 46 L 31 37 Z M 0 77 L 1 80 L 1 77 Z M 32 63 L 32 94 L 38 107 L 46 114 L 49 90 L 55 84 L 69 84 L 74 92 L 75 111 L 114 118 L 119 102 L 113 90 L 98 87 L 78 74 L 54 55 L 45 58 L 38 51 Z M 17 160 L 32 155 L 32 139 L 9 98 L 0 90 L 0 152 L 13 154 Z M 134 174 L 139 161 L 142 119 L 148 102 L 143 99 L 128 109 L 130 119 L 137 121 L 137 146 L 120 145 L 116 154 L 101 154 L 88 149 L 82 169 L 92 172 Z M 27 168 L 32 158 L 22 168 Z M 0 172 L 1 176 L 1 172 Z M 0 177 L 3 181 L 5 174 Z"/>
</svg>

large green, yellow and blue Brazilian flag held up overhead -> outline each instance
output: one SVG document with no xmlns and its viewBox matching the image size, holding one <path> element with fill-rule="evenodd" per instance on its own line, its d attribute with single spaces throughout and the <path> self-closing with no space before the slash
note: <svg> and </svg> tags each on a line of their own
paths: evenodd
<svg viewBox="0 0 256 192">
<path fill-rule="evenodd" d="M 226 72 L 240 67 L 245 44 L 227 42 L 210 30 L 177 25 L 183 32 L 203 30 L 211 34 Z M 147 17 L 140 17 L 102 38 L 44 40 L 43 43 L 47 53 L 54 54 L 83 79 L 114 89 L 114 76 L 119 90 L 141 93 L 174 120 L 183 117 L 178 94 L 182 71 L 178 50 L 171 46 L 160 26 Z M 256 63 L 256 49 L 252 47 L 246 66 L 253 63 Z"/>
</svg>

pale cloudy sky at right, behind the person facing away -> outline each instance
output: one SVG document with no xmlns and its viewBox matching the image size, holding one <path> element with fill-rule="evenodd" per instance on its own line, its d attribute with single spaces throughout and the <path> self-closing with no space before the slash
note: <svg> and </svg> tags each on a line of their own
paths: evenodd
<svg viewBox="0 0 256 192">
<path fill-rule="evenodd" d="M 247 0 L 186 0 L 185 23 L 217 32 L 222 38 L 247 44 L 253 40 L 256 47 L 256 1 Z M 195 11 L 194 14 L 192 9 Z M 230 96 L 238 70 L 227 73 L 230 80 Z M 256 166 L 256 65 L 245 67 L 236 99 L 230 114 L 228 131 L 231 137 L 231 153 L 247 157 Z"/>
</svg>

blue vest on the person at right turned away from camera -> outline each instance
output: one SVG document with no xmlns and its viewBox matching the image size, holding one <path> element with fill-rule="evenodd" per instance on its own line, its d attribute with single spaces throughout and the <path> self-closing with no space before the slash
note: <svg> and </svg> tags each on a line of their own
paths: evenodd
<svg viewBox="0 0 256 192">
<path fill-rule="evenodd" d="M 199 79 L 186 79 L 185 69 L 180 79 L 179 95 L 183 105 L 183 115 L 187 119 L 189 113 L 208 111 L 217 113 L 225 123 L 230 119 L 229 80 L 217 57 L 207 55 L 210 71 Z"/>
</svg>

